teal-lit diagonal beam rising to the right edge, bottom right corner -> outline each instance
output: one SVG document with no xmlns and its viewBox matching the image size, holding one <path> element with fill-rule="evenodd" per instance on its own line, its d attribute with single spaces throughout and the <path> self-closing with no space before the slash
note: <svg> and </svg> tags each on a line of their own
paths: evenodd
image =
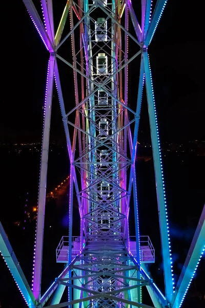
<svg viewBox="0 0 205 308">
<path fill-rule="evenodd" d="M 178 308 L 182 305 L 187 294 L 189 286 L 192 282 L 200 259 L 205 251 L 205 205 L 199 219 L 196 232 L 194 234 L 185 264 L 183 265 L 181 275 L 176 285 L 176 290 L 173 295 L 173 308 Z"/>
</svg>

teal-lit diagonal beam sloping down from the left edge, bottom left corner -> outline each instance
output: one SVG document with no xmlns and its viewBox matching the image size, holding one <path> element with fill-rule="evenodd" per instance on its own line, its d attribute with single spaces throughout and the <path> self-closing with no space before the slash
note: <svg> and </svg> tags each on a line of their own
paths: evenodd
<svg viewBox="0 0 205 308">
<path fill-rule="evenodd" d="M 29 286 L 29 283 L 20 267 L 20 264 L 14 254 L 13 248 L 7 238 L 2 223 L 0 222 L 0 252 L 10 269 L 11 275 L 13 276 L 17 287 L 22 293 L 26 303 L 30 308 L 35 307 L 35 298 Z"/>
</svg>

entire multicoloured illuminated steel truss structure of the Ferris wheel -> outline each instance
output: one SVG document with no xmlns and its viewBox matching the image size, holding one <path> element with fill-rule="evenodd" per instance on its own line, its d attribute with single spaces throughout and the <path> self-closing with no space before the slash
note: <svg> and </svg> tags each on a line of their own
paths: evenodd
<svg viewBox="0 0 205 308">
<path fill-rule="evenodd" d="M 179 308 L 204 252 L 205 209 L 174 290 L 167 203 L 148 56 L 148 46 L 167 0 L 157 0 L 153 13 L 152 1 L 141 0 L 140 24 L 131 0 L 79 0 L 78 3 L 68 0 L 56 33 L 52 0 L 42 0 L 44 22 L 32 1 L 23 1 L 50 57 L 44 106 L 32 291 L 0 225 L 1 253 L 20 292 L 29 307 L 43 307 L 51 296 L 49 307 L 55 308 L 151 307 L 142 303 L 141 292 L 147 287 L 154 307 Z M 69 19 L 70 32 L 61 40 Z M 134 30 L 132 34 L 129 32 L 129 20 Z M 72 61 L 67 61 L 58 54 L 60 46 L 68 38 L 72 44 Z M 128 42 L 132 42 L 132 49 L 129 51 Z M 136 103 L 129 104 L 128 66 L 136 65 L 137 56 L 141 57 L 138 95 Z M 67 111 L 57 60 L 63 61 L 74 74 L 76 105 Z M 67 245 L 64 245 L 67 259 L 64 256 L 62 259 L 66 263 L 64 271 L 42 296 L 46 182 L 54 81 L 71 164 L 70 219 Z M 139 237 L 135 159 L 144 84 L 152 139 L 165 294 L 159 291 L 148 274 Z M 81 226 L 75 252 L 72 249 L 74 189 Z M 135 215 L 134 252 L 130 247 L 128 221 L 131 194 L 134 196 Z M 62 245 L 58 249 L 58 257 L 63 251 Z M 66 287 L 69 298 L 62 303 L 61 297 Z"/>
</svg>

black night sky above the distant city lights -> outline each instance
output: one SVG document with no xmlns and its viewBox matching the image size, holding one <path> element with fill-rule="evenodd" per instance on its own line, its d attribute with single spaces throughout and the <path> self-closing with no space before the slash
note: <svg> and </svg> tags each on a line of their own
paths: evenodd
<svg viewBox="0 0 205 308">
<path fill-rule="evenodd" d="M 56 1 L 53 3 L 57 24 L 64 4 L 59 7 L 59 2 L 58 6 Z M 38 141 L 42 136 L 49 54 L 22 1 L 13 2 L 12 7 L 10 2 L 4 2 L 4 14 L 0 142 Z M 150 45 L 162 141 L 204 138 L 202 23 L 202 9 L 187 1 L 169 0 Z M 144 104 L 141 140 L 149 137 L 146 112 Z M 53 140 L 64 139 L 57 99 L 53 103 L 51 136 Z"/>
</svg>

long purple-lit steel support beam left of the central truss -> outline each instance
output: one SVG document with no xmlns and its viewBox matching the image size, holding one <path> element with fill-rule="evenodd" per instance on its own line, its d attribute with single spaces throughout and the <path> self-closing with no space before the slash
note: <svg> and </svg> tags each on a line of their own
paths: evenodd
<svg viewBox="0 0 205 308">
<path fill-rule="evenodd" d="M 54 65 L 55 65 L 55 56 L 50 55 L 48 64 L 45 105 L 44 105 L 45 118 L 44 118 L 44 129 L 43 129 L 42 157 L 40 162 L 40 182 L 39 182 L 39 193 L 38 193 L 38 213 L 37 213 L 37 226 L 36 226 L 34 273 L 33 273 L 33 294 L 36 300 L 40 300 L 40 287 L 42 280 L 46 183 L 47 183 L 47 169 L 48 169 L 48 151 L 49 151 L 49 137 L 50 137 L 51 106 L 52 106 L 52 95 L 53 95 Z"/>
</svg>

